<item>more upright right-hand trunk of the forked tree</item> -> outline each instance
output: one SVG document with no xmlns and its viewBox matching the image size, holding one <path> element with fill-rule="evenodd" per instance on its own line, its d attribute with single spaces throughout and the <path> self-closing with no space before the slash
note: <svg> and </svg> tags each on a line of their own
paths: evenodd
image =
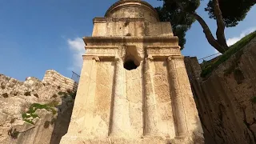
<svg viewBox="0 0 256 144">
<path fill-rule="evenodd" d="M 225 38 L 225 24 L 223 22 L 222 18 L 222 10 L 219 7 L 219 2 L 218 0 L 214 0 L 214 14 L 216 16 L 216 22 L 217 22 L 217 31 L 216 31 L 216 36 L 217 36 L 217 41 L 220 45 L 223 46 L 224 50 L 228 50 L 228 46 L 226 44 L 226 38 Z"/>
</svg>

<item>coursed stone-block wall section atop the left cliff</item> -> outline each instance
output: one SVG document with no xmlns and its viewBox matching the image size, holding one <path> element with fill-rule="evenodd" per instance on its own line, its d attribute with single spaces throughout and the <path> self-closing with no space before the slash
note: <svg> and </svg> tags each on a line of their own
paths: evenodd
<svg viewBox="0 0 256 144">
<path fill-rule="evenodd" d="M 58 74 L 55 70 L 47 70 L 42 82 L 50 83 L 52 86 L 60 86 L 61 90 L 77 90 L 78 83 L 73 79 L 66 78 L 62 74 Z"/>
</svg>

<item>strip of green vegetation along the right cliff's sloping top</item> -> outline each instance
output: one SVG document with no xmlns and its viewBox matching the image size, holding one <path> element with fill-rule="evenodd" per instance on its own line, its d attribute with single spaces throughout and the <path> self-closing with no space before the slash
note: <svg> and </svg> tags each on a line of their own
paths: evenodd
<svg viewBox="0 0 256 144">
<path fill-rule="evenodd" d="M 206 76 L 210 74 L 220 64 L 222 64 L 222 62 L 226 62 L 226 60 L 229 59 L 233 54 L 235 54 L 239 50 L 242 50 L 242 48 L 246 46 L 246 44 L 249 43 L 253 38 L 256 38 L 256 31 L 246 35 L 246 37 L 242 38 L 240 41 L 230 46 L 230 49 L 227 50 L 226 53 L 219 56 L 218 60 L 203 64 L 201 77 L 206 78 Z"/>
</svg>

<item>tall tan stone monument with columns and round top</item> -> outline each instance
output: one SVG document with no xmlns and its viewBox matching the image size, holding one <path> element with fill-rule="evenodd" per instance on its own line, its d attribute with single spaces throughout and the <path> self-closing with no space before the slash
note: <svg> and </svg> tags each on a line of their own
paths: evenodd
<svg viewBox="0 0 256 144">
<path fill-rule="evenodd" d="M 170 22 L 149 3 L 122 0 L 94 18 L 74 110 L 62 144 L 203 143 Z"/>
</svg>

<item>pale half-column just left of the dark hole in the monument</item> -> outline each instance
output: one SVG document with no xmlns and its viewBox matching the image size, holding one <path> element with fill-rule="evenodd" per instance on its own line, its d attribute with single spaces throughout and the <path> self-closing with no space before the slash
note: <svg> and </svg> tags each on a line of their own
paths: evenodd
<svg viewBox="0 0 256 144">
<path fill-rule="evenodd" d="M 114 98 L 110 137 L 126 137 L 130 127 L 129 103 L 126 98 L 125 69 L 122 58 L 115 58 Z"/>
</svg>

